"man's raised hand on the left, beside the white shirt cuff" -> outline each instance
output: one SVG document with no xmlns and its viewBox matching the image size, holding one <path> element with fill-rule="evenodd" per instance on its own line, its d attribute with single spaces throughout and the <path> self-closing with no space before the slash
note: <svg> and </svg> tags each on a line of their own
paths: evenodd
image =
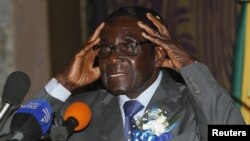
<svg viewBox="0 0 250 141">
<path fill-rule="evenodd" d="M 86 86 L 100 77 L 99 67 L 93 68 L 96 53 L 92 48 L 99 43 L 100 32 L 104 25 L 101 23 L 96 28 L 94 34 L 75 55 L 69 66 L 55 77 L 68 90 L 73 91 Z"/>
</svg>

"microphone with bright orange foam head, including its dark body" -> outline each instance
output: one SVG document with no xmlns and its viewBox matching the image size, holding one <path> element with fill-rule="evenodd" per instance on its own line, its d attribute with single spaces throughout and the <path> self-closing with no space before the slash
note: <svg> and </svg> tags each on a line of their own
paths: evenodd
<svg viewBox="0 0 250 141">
<path fill-rule="evenodd" d="M 85 128 L 91 120 L 91 110 L 87 104 L 77 101 L 67 107 L 63 119 L 62 126 L 51 129 L 52 141 L 66 141 L 71 133 Z"/>
</svg>

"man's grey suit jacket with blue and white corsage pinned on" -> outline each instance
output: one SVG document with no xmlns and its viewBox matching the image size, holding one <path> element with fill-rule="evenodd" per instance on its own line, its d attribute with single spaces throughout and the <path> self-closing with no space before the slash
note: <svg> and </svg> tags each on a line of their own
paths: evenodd
<svg viewBox="0 0 250 141">
<path fill-rule="evenodd" d="M 163 73 L 160 86 L 147 106 L 150 109 L 155 104 L 164 105 L 169 119 L 178 117 L 177 126 L 171 130 L 174 141 L 205 141 L 208 124 L 244 124 L 230 95 L 217 84 L 206 66 L 195 63 L 182 68 L 180 73 L 185 83 Z M 123 141 L 123 121 L 117 97 L 105 90 L 75 95 L 62 111 L 78 100 L 89 104 L 92 120 L 69 141 Z"/>
</svg>

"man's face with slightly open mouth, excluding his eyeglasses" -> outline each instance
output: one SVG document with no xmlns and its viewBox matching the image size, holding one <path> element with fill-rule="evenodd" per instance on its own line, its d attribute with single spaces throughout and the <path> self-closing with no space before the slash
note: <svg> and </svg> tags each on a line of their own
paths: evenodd
<svg viewBox="0 0 250 141">
<path fill-rule="evenodd" d="M 100 44 L 146 41 L 141 33 L 137 20 L 117 17 L 104 27 Z M 156 79 L 155 52 L 149 44 L 141 45 L 134 56 L 121 56 L 113 50 L 108 57 L 99 58 L 99 67 L 105 88 L 114 95 L 135 98 Z"/>
</svg>

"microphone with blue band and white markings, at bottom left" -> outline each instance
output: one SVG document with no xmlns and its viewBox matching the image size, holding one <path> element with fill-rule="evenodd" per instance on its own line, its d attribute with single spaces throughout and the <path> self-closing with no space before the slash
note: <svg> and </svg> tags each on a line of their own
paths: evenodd
<svg viewBox="0 0 250 141">
<path fill-rule="evenodd" d="M 31 100 L 14 114 L 10 141 L 36 141 L 50 128 L 52 109 L 46 100 Z"/>
</svg>

